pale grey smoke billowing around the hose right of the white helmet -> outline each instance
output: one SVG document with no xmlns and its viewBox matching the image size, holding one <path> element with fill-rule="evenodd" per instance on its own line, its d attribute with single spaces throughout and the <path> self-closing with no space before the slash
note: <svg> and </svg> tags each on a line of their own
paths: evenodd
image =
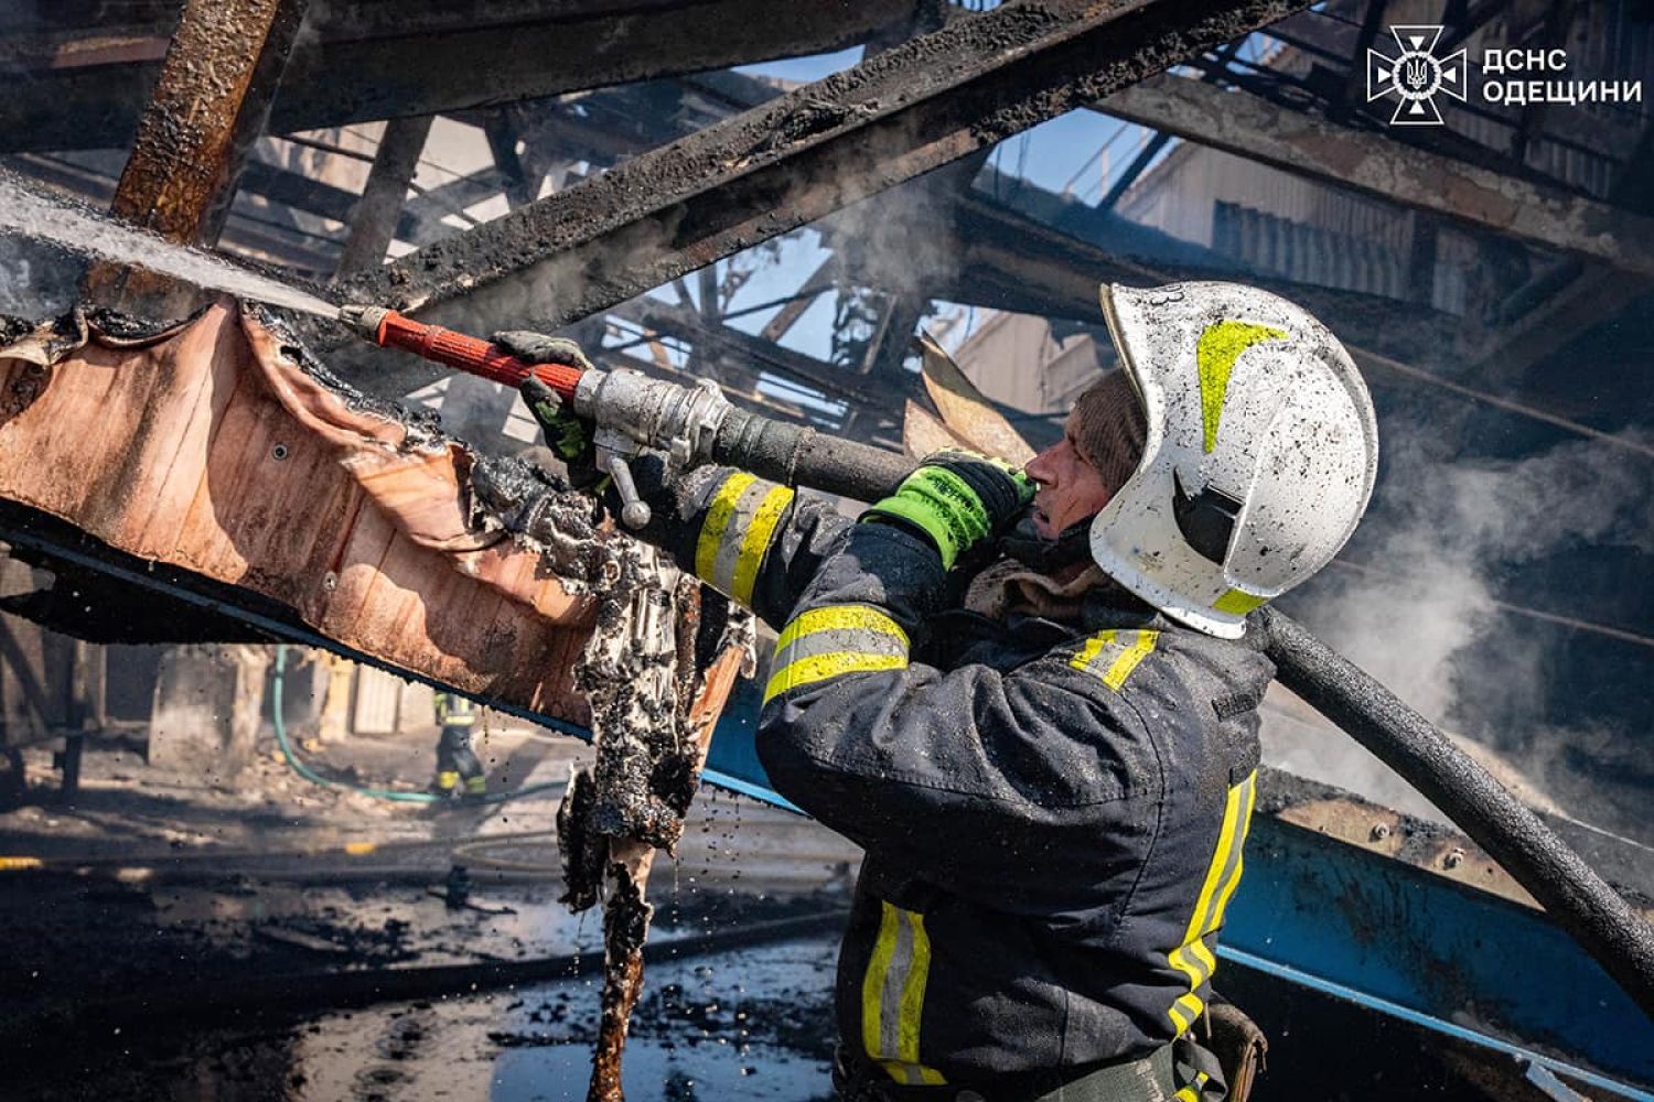
<svg viewBox="0 0 1654 1102">
<path fill-rule="evenodd" d="M 1508 606 L 1593 620 L 1573 606 L 1561 563 L 1591 565 L 1598 562 L 1591 552 L 1611 547 L 1654 552 L 1647 459 L 1611 441 L 1585 439 L 1520 459 L 1454 459 L 1447 448 L 1459 426 L 1403 418 L 1383 428 L 1384 473 L 1374 507 L 1343 560 L 1307 587 L 1307 603 L 1295 603 L 1293 611 L 1421 714 L 1456 732 L 1472 757 L 1530 805 L 1646 834 L 1631 806 L 1646 800 L 1636 778 L 1649 765 L 1637 763 L 1654 750 L 1637 745 L 1639 732 L 1621 730 L 1621 719 L 1568 699 L 1566 629 Z M 1646 443 L 1649 435 L 1637 428 L 1624 438 Z M 1634 601 L 1637 593 L 1626 596 Z M 1634 615 L 1618 623 L 1634 623 Z M 1634 643 L 1591 644 L 1637 649 Z M 1560 722 L 1558 714 L 1565 715 Z M 1270 760 L 1285 768 L 1427 811 L 1422 796 L 1404 790 L 1371 755 L 1351 752 L 1341 735 L 1315 732 L 1300 715 L 1272 709 L 1265 743 Z"/>
</svg>

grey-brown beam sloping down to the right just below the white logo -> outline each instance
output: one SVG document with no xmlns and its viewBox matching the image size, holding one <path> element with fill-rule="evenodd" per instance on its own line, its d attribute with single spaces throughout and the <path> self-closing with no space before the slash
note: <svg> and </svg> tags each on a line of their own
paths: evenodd
<svg viewBox="0 0 1654 1102">
<path fill-rule="evenodd" d="M 1102 109 L 1285 172 L 1654 274 L 1654 218 L 1284 111 L 1247 93 L 1161 78 L 1111 96 Z"/>
</svg>

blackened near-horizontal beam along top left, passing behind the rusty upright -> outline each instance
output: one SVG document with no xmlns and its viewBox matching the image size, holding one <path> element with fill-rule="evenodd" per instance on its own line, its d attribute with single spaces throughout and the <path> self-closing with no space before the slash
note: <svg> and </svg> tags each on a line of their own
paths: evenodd
<svg viewBox="0 0 1654 1102">
<path fill-rule="evenodd" d="M 356 7 L 384 13 L 352 25 Z M 915 8 L 888 0 L 799 3 L 782 18 L 771 0 L 673 7 L 610 0 L 547 18 L 541 2 L 533 17 L 524 8 L 518 21 L 500 20 L 491 12 L 496 5 L 488 5 L 491 21 L 476 25 L 475 5 L 420 3 L 412 13 L 404 7 L 329 5 L 337 12 L 293 51 L 271 132 L 442 114 L 825 53 L 906 26 Z M 397 25 L 418 13 L 427 18 L 414 30 Z M 134 104 L 149 96 L 159 71 L 155 63 L 127 63 L 8 74 L 7 96 L 0 97 L 0 152 L 131 144 Z"/>
</svg>

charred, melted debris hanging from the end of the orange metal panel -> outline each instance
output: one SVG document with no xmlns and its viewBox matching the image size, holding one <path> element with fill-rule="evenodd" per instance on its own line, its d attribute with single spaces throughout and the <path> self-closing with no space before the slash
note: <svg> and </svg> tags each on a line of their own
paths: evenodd
<svg viewBox="0 0 1654 1102">
<path fill-rule="evenodd" d="M 562 902 L 576 912 L 604 902 L 602 1019 L 587 1099 L 619 1102 L 653 914 L 645 900 L 650 867 L 683 833 L 713 722 L 736 669 L 751 664 L 753 620 L 612 524 L 594 527 L 589 499 L 534 492 L 523 471 L 493 463 L 473 486 L 500 509 L 491 515 L 508 517 L 496 522 L 543 549 L 559 577 L 599 601 L 574 667 L 590 704 L 597 762 L 571 777 L 557 844 Z"/>
</svg>

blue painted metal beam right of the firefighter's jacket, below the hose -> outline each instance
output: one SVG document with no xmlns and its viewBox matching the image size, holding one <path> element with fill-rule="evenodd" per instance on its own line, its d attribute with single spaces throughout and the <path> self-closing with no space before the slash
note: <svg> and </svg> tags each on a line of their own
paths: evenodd
<svg viewBox="0 0 1654 1102">
<path fill-rule="evenodd" d="M 1538 910 L 1257 816 L 1224 945 L 1654 1085 L 1654 1021 Z"/>
</svg>

